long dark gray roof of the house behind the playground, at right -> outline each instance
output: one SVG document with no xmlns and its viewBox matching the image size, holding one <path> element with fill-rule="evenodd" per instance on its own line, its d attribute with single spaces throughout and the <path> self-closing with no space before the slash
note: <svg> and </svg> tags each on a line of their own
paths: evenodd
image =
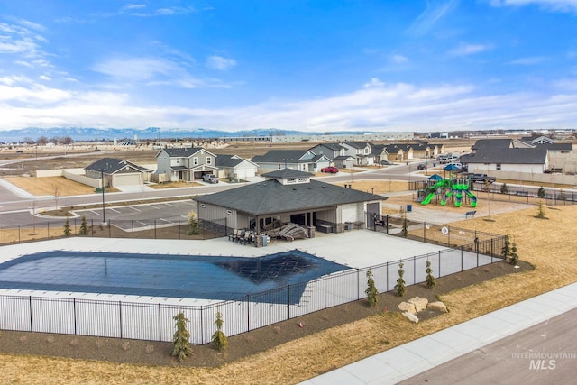
<svg viewBox="0 0 577 385">
<path fill-rule="evenodd" d="M 463 156 L 461 158 L 463 159 Z M 546 159 L 545 146 L 533 149 L 481 147 L 475 153 L 465 156 L 463 161 L 467 163 L 545 164 Z"/>
</svg>

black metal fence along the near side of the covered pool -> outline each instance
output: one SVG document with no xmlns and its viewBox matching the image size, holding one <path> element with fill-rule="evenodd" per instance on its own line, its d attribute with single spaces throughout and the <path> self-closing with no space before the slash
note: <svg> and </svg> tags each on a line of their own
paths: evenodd
<svg viewBox="0 0 577 385">
<path fill-rule="evenodd" d="M 410 286 L 426 281 L 426 261 L 431 262 L 437 278 L 502 261 L 497 251 L 505 237 L 478 235 L 482 235 L 481 241 L 458 248 L 344 270 L 206 306 L 2 295 L 0 329 L 170 342 L 175 331 L 173 316 L 182 311 L 190 321 L 190 342 L 207 344 L 216 330 L 216 312 L 223 315 L 224 334 L 238 335 L 366 298 L 367 270 L 371 270 L 377 289 L 387 292 L 397 283 L 399 262 L 404 264 L 404 280 Z"/>
</svg>

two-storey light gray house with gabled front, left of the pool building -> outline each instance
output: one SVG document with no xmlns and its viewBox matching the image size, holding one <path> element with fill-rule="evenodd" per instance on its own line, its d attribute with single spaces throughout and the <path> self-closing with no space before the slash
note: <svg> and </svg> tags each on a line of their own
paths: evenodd
<svg viewBox="0 0 577 385">
<path fill-rule="evenodd" d="M 156 154 L 157 172 L 169 181 L 192 182 L 204 174 L 217 174 L 216 155 L 203 148 L 162 149 Z"/>
</svg>

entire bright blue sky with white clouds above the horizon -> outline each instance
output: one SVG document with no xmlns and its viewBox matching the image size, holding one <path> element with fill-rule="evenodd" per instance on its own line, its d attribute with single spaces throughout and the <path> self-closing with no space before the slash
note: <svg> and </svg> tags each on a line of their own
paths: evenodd
<svg viewBox="0 0 577 385">
<path fill-rule="evenodd" d="M 0 131 L 577 128 L 577 0 L 0 0 Z"/>
</svg>

